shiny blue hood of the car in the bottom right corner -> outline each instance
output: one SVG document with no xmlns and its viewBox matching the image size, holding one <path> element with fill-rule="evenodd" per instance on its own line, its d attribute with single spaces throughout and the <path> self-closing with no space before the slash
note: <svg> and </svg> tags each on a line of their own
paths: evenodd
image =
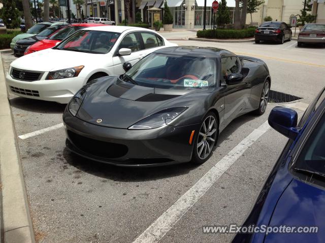
<svg viewBox="0 0 325 243">
<path fill-rule="evenodd" d="M 325 242 L 325 191 L 293 179 L 281 195 L 270 226 L 318 226 L 317 233 L 270 233 L 264 242 Z"/>
</svg>

